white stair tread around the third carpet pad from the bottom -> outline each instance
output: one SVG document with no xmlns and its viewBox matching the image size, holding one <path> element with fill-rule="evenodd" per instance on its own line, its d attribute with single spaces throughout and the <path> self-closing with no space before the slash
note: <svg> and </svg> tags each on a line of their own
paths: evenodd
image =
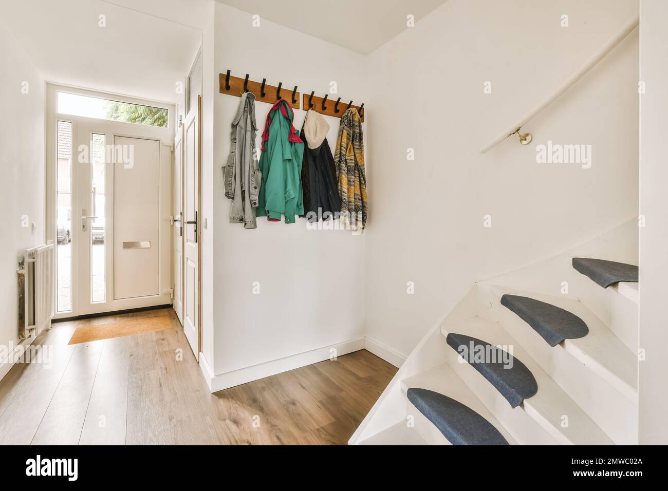
<svg viewBox="0 0 668 491">
<path fill-rule="evenodd" d="M 578 339 L 566 339 L 561 343 L 562 347 L 580 363 L 606 379 L 626 397 L 633 401 L 637 400 L 637 356 L 585 305 L 571 299 L 507 287 L 494 286 L 492 290 L 499 299 L 504 294 L 521 295 L 560 307 L 580 317 L 587 324 L 589 334 Z M 532 329 L 529 325 L 526 328 Z M 555 346 L 553 349 L 558 349 L 558 347 Z"/>
</svg>

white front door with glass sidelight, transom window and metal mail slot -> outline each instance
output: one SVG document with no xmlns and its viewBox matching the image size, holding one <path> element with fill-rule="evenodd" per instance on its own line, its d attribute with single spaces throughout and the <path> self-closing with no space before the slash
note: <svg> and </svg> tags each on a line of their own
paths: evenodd
<svg viewBox="0 0 668 491">
<path fill-rule="evenodd" d="M 57 318 L 172 303 L 174 108 L 142 103 L 47 84 Z M 130 122 L 126 109 L 155 118 Z"/>
</svg>

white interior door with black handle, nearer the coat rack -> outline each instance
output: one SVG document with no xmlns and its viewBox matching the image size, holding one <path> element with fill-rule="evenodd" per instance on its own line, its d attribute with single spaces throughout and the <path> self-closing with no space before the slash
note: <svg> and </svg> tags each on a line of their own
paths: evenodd
<svg viewBox="0 0 668 491">
<path fill-rule="evenodd" d="M 201 98 L 199 98 L 201 100 Z M 184 122 L 183 136 L 183 330 L 192 352 L 199 359 L 199 174 L 200 174 L 200 103 L 190 108 Z"/>
</svg>

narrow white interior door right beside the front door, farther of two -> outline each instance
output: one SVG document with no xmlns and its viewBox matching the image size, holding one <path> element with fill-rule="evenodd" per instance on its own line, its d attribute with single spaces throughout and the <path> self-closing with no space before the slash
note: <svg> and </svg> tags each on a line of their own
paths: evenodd
<svg viewBox="0 0 668 491">
<path fill-rule="evenodd" d="M 174 311 L 183 324 L 183 128 L 176 130 L 174 138 Z"/>
</svg>

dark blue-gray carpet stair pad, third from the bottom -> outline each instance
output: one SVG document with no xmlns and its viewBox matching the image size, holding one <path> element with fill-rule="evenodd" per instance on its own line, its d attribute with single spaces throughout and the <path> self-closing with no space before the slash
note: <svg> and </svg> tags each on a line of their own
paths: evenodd
<svg viewBox="0 0 668 491">
<path fill-rule="evenodd" d="M 519 295 L 503 295 L 501 305 L 516 313 L 550 346 L 556 346 L 564 339 L 585 337 L 589 333 L 589 327 L 580 317 L 549 303 Z"/>
</svg>

